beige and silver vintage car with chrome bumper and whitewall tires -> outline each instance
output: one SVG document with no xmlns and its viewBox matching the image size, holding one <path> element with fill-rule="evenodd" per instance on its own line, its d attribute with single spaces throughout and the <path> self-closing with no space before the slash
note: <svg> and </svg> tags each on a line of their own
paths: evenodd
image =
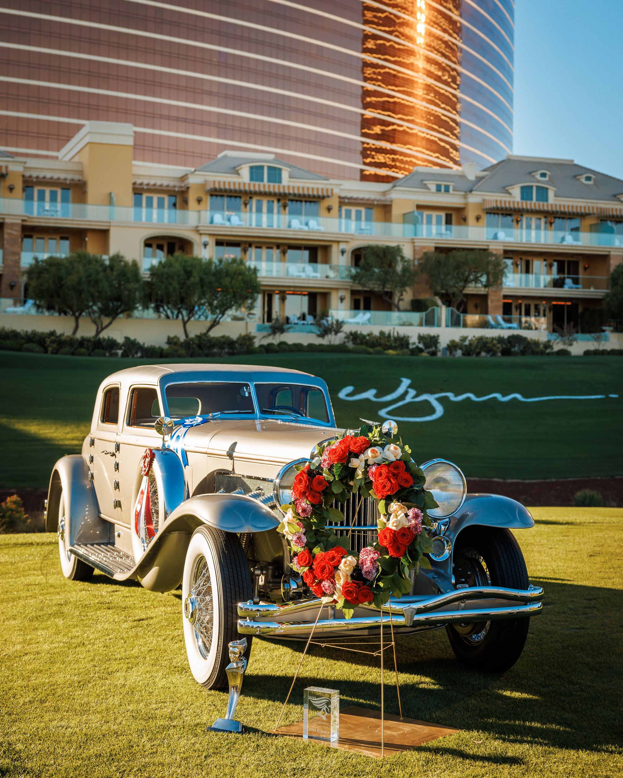
<svg viewBox="0 0 623 778">
<path fill-rule="evenodd" d="M 95 398 L 82 454 L 51 474 L 47 527 L 58 531 L 65 577 L 97 569 L 153 591 L 181 587 L 188 663 L 200 684 L 226 685 L 227 645 L 239 635 L 323 642 L 344 636 L 417 633 L 445 626 L 456 657 L 504 671 L 523 650 L 543 591 L 529 585 L 511 530 L 532 527 L 512 499 L 466 494 L 449 461 L 421 465 L 438 507 L 431 569 L 412 576 L 410 594 L 352 618 L 304 587 L 290 566 L 280 505 L 295 467 L 336 428 L 323 380 L 276 367 L 176 364 L 120 370 Z M 375 542 L 378 508 L 368 498 L 350 548 Z M 352 498 L 336 534 L 354 516 Z M 319 614 L 319 608 L 322 612 Z"/>
</svg>

